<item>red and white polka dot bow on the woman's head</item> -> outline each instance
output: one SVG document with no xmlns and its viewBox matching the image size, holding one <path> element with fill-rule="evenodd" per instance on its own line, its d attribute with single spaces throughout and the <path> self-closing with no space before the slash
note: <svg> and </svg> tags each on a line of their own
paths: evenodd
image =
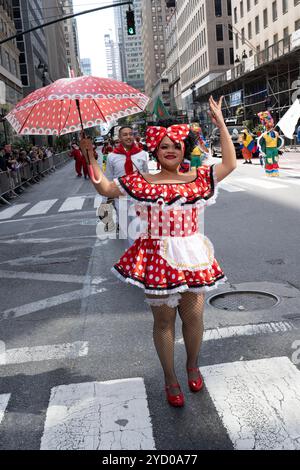
<svg viewBox="0 0 300 470">
<path fill-rule="evenodd" d="M 175 124 L 174 126 L 148 127 L 146 132 L 146 144 L 150 152 L 154 152 L 159 146 L 164 137 L 168 136 L 173 142 L 183 142 L 190 133 L 190 126 L 188 124 Z"/>
</svg>

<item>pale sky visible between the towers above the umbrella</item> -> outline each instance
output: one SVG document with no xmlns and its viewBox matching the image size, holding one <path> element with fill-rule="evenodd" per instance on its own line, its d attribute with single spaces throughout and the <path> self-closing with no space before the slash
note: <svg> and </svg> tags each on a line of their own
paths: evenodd
<svg viewBox="0 0 300 470">
<path fill-rule="evenodd" d="M 112 3 L 112 0 L 73 0 L 75 13 Z M 115 37 L 114 9 L 79 16 L 77 26 L 80 57 L 91 59 L 93 75 L 107 77 L 104 34 L 111 29 L 113 38 Z"/>
</svg>

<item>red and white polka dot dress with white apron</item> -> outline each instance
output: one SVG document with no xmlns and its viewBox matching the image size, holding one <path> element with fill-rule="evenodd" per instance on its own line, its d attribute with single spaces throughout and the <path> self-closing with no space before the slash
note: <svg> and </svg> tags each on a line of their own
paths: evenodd
<svg viewBox="0 0 300 470">
<path fill-rule="evenodd" d="M 199 215 L 216 199 L 214 167 L 200 167 L 190 183 L 149 183 L 140 173 L 115 180 L 135 202 L 144 231 L 112 268 L 121 280 L 153 295 L 203 292 L 225 281 Z"/>
</svg>

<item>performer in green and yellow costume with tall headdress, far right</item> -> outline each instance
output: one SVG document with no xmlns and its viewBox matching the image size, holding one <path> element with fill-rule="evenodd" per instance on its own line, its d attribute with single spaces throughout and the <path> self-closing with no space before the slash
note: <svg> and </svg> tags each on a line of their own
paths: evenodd
<svg viewBox="0 0 300 470">
<path fill-rule="evenodd" d="M 258 113 L 261 123 L 266 131 L 259 137 L 257 144 L 260 153 L 265 159 L 266 176 L 279 176 L 279 149 L 283 147 L 284 140 L 274 130 L 274 120 L 269 111 Z"/>
</svg>

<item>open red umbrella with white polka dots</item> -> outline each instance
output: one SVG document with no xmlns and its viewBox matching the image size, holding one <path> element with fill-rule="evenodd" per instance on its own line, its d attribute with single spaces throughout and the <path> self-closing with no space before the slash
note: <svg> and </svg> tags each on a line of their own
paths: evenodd
<svg viewBox="0 0 300 470">
<path fill-rule="evenodd" d="M 109 78 L 63 78 L 40 88 L 6 116 L 18 134 L 63 135 L 143 111 L 149 98 Z"/>
</svg>

